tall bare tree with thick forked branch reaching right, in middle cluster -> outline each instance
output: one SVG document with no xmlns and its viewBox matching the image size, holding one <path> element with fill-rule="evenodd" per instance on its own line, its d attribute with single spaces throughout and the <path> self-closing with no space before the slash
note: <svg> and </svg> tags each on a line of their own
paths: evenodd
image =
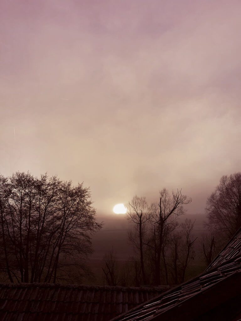
<svg viewBox="0 0 241 321">
<path fill-rule="evenodd" d="M 161 262 L 164 262 L 165 279 L 168 283 L 167 265 L 165 260 L 165 247 L 170 242 L 171 233 L 176 229 L 177 219 L 183 215 L 186 210 L 183 205 L 189 204 L 191 198 L 182 194 L 182 190 L 169 194 L 166 188 L 160 191 L 159 203 L 152 204 L 152 230 L 149 246 L 154 251 L 155 261 L 155 280 L 156 285 L 161 281 Z"/>
</svg>

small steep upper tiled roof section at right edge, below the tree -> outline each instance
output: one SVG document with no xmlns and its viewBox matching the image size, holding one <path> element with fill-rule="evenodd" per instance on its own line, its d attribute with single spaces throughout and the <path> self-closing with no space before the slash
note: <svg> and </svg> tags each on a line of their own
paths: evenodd
<svg viewBox="0 0 241 321">
<path fill-rule="evenodd" d="M 222 251 L 216 256 L 205 271 L 223 264 L 227 260 L 238 256 L 241 253 L 241 229 L 237 230 L 234 236 L 228 241 Z"/>
</svg>

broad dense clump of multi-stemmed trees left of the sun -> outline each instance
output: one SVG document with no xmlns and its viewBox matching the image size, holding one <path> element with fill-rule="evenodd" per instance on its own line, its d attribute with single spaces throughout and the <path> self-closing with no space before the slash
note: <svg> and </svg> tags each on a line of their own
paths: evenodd
<svg viewBox="0 0 241 321">
<path fill-rule="evenodd" d="M 0 255 L 10 282 L 79 282 L 101 228 L 89 189 L 57 177 L 0 176 Z"/>
</svg>

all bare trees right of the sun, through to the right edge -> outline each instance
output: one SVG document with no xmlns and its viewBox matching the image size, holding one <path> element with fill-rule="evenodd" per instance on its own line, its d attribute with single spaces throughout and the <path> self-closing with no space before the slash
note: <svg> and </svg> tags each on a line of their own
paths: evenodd
<svg viewBox="0 0 241 321">
<path fill-rule="evenodd" d="M 135 256 L 120 264 L 112 248 L 103 257 L 104 283 L 140 286 L 184 282 L 190 265 L 192 275 L 200 273 L 241 227 L 241 173 L 223 176 L 207 200 L 205 230 L 195 236 L 195 220 L 180 223 L 191 198 L 164 188 L 156 203 L 135 195 L 127 205 L 129 242 Z M 194 264 L 195 262 L 195 264 Z M 194 266 L 194 267 L 193 267 Z M 196 269 L 196 270 L 195 270 Z"/>
</svg>

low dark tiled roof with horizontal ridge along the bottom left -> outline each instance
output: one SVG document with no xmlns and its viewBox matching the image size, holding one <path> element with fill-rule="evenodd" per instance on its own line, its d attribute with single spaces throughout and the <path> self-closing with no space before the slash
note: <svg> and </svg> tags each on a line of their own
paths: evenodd
<svg viewBox="0 0 241 321">
<path fill-rule="evenodd" d="M 0 284 L 0 320 L 107 321 L 163 291 L 163 288 Z"/>
</svg>

